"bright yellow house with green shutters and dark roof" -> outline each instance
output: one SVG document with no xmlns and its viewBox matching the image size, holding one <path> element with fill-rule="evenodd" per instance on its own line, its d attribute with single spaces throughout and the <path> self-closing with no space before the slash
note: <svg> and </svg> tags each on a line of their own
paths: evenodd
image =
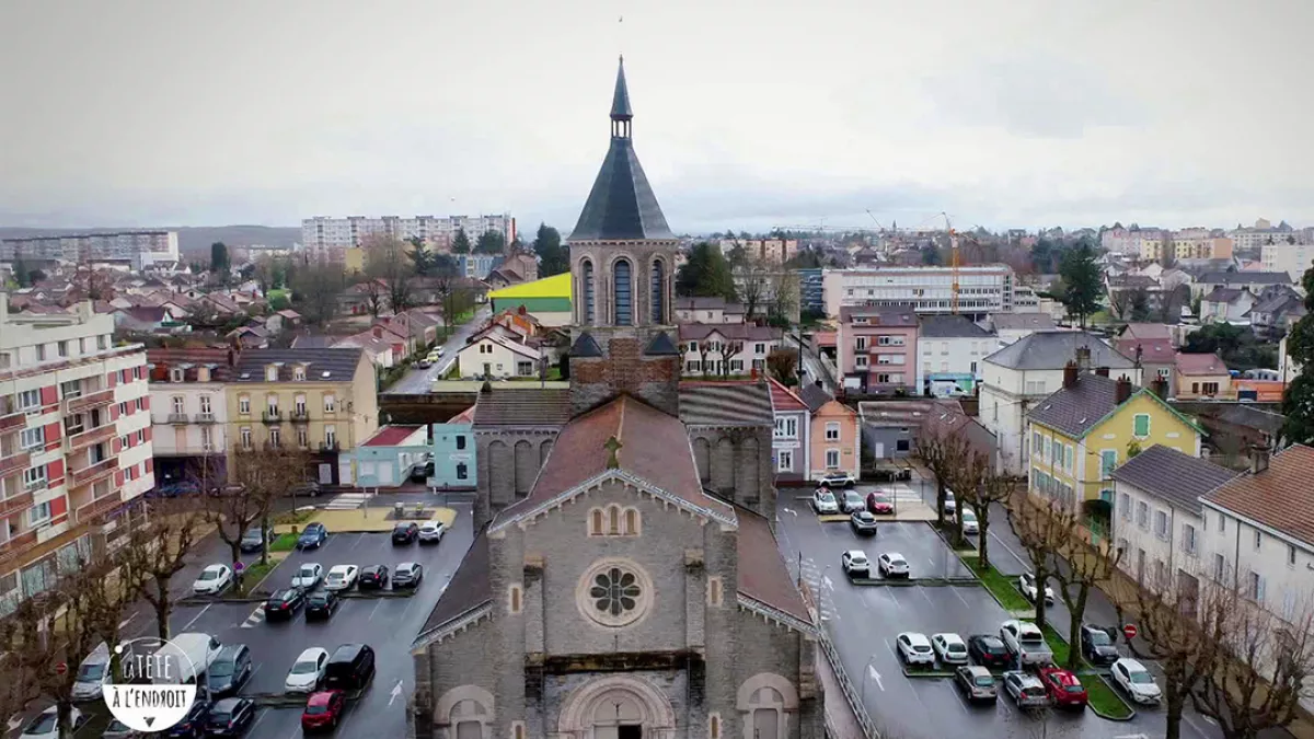
<svg viewBox="0 0 1314 739">
<path fill-rule="evenodd" d="M 1200 456 L 1201 429 L 1130 380 L 1064 370 L 1063 388 L 1028 414 L 1031 494 L 1068 508 L 1113 502 L 1113 471 L 1137 450 L 1163 444 Z"/>
</svg>

